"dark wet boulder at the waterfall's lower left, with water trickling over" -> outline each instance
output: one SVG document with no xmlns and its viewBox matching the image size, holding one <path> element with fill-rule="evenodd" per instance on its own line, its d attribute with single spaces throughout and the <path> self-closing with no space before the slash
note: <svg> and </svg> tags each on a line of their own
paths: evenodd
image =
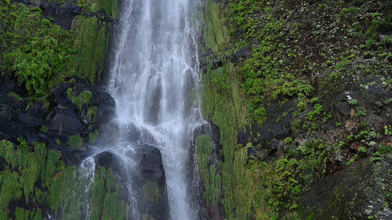
<svg viewBox="0 0 392 220">
<path fill-rule="evenodd" d="M 162 156 L 158 148 L 148 145 L 135 145 L 125 157 L 136 162 L 130 165 L 127 159 L 113 151 L 104 151 L 94 157 L 96 166 L 112 168 L 118 178 L 118 182 L 122 184 L 120 195 L 127 197 L 127 184 L 132 182 L 132 188 L 136 191 L 136 200 L 138 201 L 137 209 L 139 213 L 151 216 L 154 219 L 169 219 L 169 201 L 166 191 L 166 176 L 163 169 Z M 136 167 L 133 167 L 135 166 Z M 131 166 L 131 167 L 130 167 Z M 135 169 L 135 170 L 133 170 Z M 159 189 L 160 198 L 156 202 L 149 201 L 145 195 L 143 185 L 146 182 L 153 181 Z"/>
</svg>

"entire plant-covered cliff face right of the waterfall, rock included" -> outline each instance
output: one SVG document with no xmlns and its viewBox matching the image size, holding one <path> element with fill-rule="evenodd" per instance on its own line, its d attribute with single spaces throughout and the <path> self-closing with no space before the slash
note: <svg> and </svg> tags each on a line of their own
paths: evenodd
<svg viewBox="0 0 392 220">
<path fill-rule="evenodd" d="M 390 218 L 389 171 L 373 167 L 392 153 L 392 3 L 205 0 L 194 11 L 201 110 L 220 130 L 195 140 L 200 216 Z M 361 179 L 358 168 L 377 187 L 342 180 Z"/>
</svg>

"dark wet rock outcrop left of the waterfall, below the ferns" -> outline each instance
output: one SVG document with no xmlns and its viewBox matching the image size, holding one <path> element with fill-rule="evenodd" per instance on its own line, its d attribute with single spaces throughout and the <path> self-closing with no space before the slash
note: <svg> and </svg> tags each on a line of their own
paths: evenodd
<svg viewBox="0 0 392 220">
<path fill-rule="evenodd" d="M 0 96 L 0 138 L 16 141 L 23 137 L 27 142 L 44 142 L 50 149 L 63 152 L 64 163 L 67 165 L 79 165 L 86 157 L 82 150 L 69 150 L 69 146 L 62 144 L 69 140 L 71 135 L 83 138 L 84 143 L 89 141 L 89 133 L 94 130 L 103 133 L 105 126 L 115 117 L 116 103 L 114 99 L 98 86 L 88 85 L 87 82 L 77 76 L 71 83 L 56 85 L 48 97 L 50 106 L 45 108 L 43 103 L 36 102 L 29 106 L 27 101 L 18 101 L 7 95 Z M 68 98 L 67 89 L 73 88 L 73 96 L 77 96 L 85 90 L 89 90 L 93 97 L 87 104 L 83 104 L 81 110 Z M 89 108 L 96 107 L 96 120 L 89 119 Z M 101 135 L 99 135 L 101 136 Z M 98 137 L 99 137 L 98 136 Z M 59 139 L 62 143 L 56 143 Z M 84 150 L 88 147 L 83 144 Z"/>
</svg>

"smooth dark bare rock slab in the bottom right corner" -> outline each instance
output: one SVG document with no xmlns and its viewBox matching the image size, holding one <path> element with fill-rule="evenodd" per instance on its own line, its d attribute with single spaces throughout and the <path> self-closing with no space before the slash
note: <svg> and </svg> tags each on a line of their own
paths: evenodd
<svg viewBox="0 0 392 220">
<path fill-rule="evenodd" d="M 301 202 L 312 219 L 392 219 L 385 190 L 392 186 L 391 170 L 391 155 L 380 162 L 359 161 L 312 184 Z"/>
</svg>

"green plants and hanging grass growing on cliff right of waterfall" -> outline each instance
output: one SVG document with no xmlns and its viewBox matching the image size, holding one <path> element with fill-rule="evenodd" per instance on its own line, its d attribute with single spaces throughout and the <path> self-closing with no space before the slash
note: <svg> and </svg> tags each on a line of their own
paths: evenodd
<svg viewBox="0 0 392 220">
<path fill-rule="evenodd" d="M 221 204 L 228 220 L 302 219 L 298 198 L 307 184 L 323 177 L 328 169 L 327 157 L 339 155 L 354 141 L 373 144 L 379 152 L 391 152 L 390 146 L 377 146 L 381 136 L 374 128 L 366 126 L 335 144 L 315 139 L 298 148 L 285 145 L 283 156 L 268 164 L 247 156 L 247 149 L 253 148 L 251 143 L 243 146 L 236 141 L 238 131 L 243 131 L 245 124 L 269 126 L 265 124 L 267 119 L 277 117 L 281 106 L 292 99 L 296 107 L 286 110 L 276 122 L 292 111 L 292 131 L 301 128 L 310 136 L 321 130 L 321 124 L 332 118 L 329 104 L 321 105 L 324 98 L 343 87 L 340 80 L 348 80 L 348 63 L 360 56 L 375 56 L 383 61 L 353 70 L 349 78 L 355 78 L 359 71 L 363 76 L 372 71 L 385 75 L 390 64 L 383 62 L 388 63 L 386 59 L 392 58 L 391 46 L 386 43 L 389 38 L 381 40 L 379 35 L 391 27 L 391 7 L 388 5 L 383 13 L 359 15 L 366 10 L 363 1 L 329 0 L 319 5 L 303 1 L 287 4 L 284 1 L 235 0 L 227 4 L 207 0 L 205 7 L 196 7 L 197 19 L 206 25 L 197 27 L 204 34 L 204 41 L 197 42 L 198 47 L 202 53 L 213 52 L 201 59 L 201 110 L 205 119 L 220 128 L 223 149 L 219 154 L 224 157 L 224 162 L 218 166 L 211 164 L 211 137 L 196 137 L 199 171 L 208 206 Z M 249 48 L 250 58 L 236 61 L 236 64 L 223 57 L 228 55 L 233 60 L 234 52 Z M 222 60 L 223 67 L 212 70 L 213 59 Z M 317 87 L 314 87 L 316 83 Z M 318 97 L 312 97 L 314 94 Z M 358 108 L 355 117 L 366 116 L 356 107 L 358 100 L 350 99 L 347 103 L 353 109 Z M 386 108 L 387 103 L 379 104 Z M 302 113 L 308 109 L 306 114 Z M 341 125 L 341 121 L 336 122 L 336 126 Z M 392 129 L 385 129 L 390 135 Z M 250 131 L 254 132 L 254 128 Z M 254 142 L 257 142 L 256 135 L 260 136 L 251 133 Z M 293 138 L 287 137 L 283 142 L 291 144 L 294 138 L 293 132 Z M 268 146 L 258 145 L 258 148 L 267 151 Z M 370 153 L 367 148 L 360 149 L 356 156 L 345 161 L 347 166 Z M 378 161 L 377 158 L 379 156 L 375 154 L 372 160 Z M 214 188 L 219 182 L 211 181 L 214 176 L 221 177 L 221 190 Z M 278 213 L 284 214 L 278 216 Z"/>
</svg>

